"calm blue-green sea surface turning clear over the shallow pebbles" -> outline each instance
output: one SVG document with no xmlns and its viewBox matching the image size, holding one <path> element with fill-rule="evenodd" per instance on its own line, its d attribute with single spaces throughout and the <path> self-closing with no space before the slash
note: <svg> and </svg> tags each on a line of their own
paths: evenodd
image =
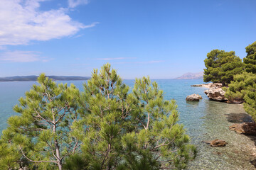
<svg viewBox="0 0 256 170">
<path fill-rule="evenodd" d="M 58 81 L 75 84 L 82 89 L 84 81 Z M 156 80 L 160 89 L 164 90 L 165 98 L 174 98 L 180 113 L 179 123 L 183 123 L 191 142 L 198 148 L 198 156 L 188 165 L 188 169 L 255 169 L 250 161 L 250 150 L 254 142 L 245 135 L 238 135 L 228 130 L 228 126 L 239 123 L 234 117 L 246 119 L 247 115 L 241 105 L 233 105 L 209 101 L 203 87 L 191 87 L 192 84 L 203 84 L 202 80 Z M 124 80 L 133 86 L 134 80 Z M 12 107 L 18 98 L 31 89 L 36 81 L 0 82 L 0 130 L 6 128 L 6 120 L 16 115 Z M 186 96 L 200 94 L 200 102 L 186 102 Z M 222 139 L 228 142 L 226 147 L 210 147 L 203 140 Z"/>
</svg>

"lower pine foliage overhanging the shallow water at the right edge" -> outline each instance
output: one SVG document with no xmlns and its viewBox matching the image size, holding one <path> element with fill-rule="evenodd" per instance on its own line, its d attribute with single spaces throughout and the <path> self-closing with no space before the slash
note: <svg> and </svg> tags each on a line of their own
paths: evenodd
<svg viewBox="0 0 256 170">
<path fill-rule="evenodd" d="M 256 121 L 256 74 L 244 72 L 235 75 L 225 96 L 230 101 L 243 99 L 245 111 Z"/>
</svg>

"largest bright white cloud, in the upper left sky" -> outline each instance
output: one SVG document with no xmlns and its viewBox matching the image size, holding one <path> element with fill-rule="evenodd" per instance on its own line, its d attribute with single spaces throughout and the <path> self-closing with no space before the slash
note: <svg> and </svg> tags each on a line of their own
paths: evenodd
<svg viewBox="0 0 256 170">
<path fill-rule="evenodd" d="M 62 38 L 97 24 L 73 21 L 65 8 L 40 11 L 41 1 L 46 0 L 0 0 L 0 46 Z"/>
</svg>

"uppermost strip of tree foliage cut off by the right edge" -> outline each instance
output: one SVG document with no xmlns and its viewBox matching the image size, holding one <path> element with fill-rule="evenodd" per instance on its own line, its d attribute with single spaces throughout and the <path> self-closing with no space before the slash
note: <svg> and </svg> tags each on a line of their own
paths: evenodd
<svg viewBox="0 0 256 170">
<path fill-rule="evenodd" d="M 246 72 L 256 74 L 256 41 L 245 47 L 247 55 L 244 58 Z"/>
</svg>

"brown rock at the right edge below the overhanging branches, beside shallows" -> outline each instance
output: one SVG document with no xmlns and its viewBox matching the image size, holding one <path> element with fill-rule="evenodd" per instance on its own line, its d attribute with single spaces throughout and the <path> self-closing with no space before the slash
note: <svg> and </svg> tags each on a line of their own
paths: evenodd
<svg viewBox="0 0 256 170">
<path fill-rule="evenodd" d="M 235 123 L 234 125 L 230 125 L 229 129 L 239 134 L 256 135 L 255 123 Z"/>
</svg>

